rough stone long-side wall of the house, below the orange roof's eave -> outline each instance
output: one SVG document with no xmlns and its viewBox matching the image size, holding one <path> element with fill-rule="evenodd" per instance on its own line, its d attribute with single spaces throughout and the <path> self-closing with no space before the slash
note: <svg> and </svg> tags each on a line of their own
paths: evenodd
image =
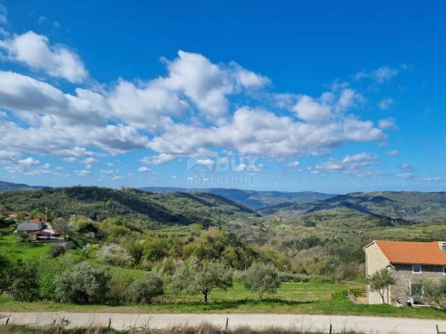
<svg viewBox="0 0 446 334">
<path fill-rule="evenodd" d="M 412 272 L 412 264 L 394 264 L 392 274 L 397 281 L 390 287 L 390 298 L 405 303 L 410 298 L 410 283 L 422 283 L 423 281 L 438 281 L 446 278 L 443 274 L 443 266 L 421 266 L 421 273 Z"/>
</svg>

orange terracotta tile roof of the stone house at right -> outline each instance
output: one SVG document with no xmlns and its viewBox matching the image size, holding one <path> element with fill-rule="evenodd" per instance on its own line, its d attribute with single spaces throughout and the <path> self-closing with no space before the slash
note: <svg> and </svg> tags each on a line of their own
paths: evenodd
<svg viewBox="0 0 446 334">
<path fill-rule="evenodd" d="M 440 250 L 438 241 L 375 240 L 375 242 L 390 263 L 446 266 L 446 252 Z"/>
</svg>

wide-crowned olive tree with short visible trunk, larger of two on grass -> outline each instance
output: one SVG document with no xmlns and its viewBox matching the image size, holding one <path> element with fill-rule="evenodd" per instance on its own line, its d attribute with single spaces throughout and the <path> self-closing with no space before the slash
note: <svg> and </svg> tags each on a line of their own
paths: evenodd
<svg viewBox="0 0 446 334">
<path fill-rule="evenodd" d="M 174 289 L 190 294 L 203 294 L 204 303 L 212 289 L 227 289 L 232 286 L 231 270 L 220 260 L 202 264 L 197 257 L 190 257 L 189 263 L 183 265 L 172 278 Z"/>
</svg>

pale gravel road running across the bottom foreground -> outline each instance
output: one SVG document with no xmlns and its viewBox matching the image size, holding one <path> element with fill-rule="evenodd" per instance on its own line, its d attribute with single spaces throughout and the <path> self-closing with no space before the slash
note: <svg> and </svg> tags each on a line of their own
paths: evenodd
<svg viewBox="0 0 446 334">
<path fill-rule="evenodd" d="M 0 312 L 0 324 L 5 324 L 9 313 Z M 436 324 L 440 331 L 446 331 L 446 321 L 423 320 L 390 317 L 354 317 L 341 315 L 274 315 L 274 314 L 127 314 L 127 313 L 71 313 L 71 312 L 13 312 L 9 324 L 26 324 L 31 326 L 48 326 L 53 321 L 68 319 L 69 326 L 86 326 L 97 324 L 116 329 L 145 327 L 153 329 L 189 324 L 197 325 L 206 321 L 224 328 L 228 320 L 229 329 L 238 326 L 261 328 L 278 326 L 305 329 L 308 331 L 328 331 L 330 324 L 334 332 L 355 330 L 361 333 L 401 333 L 434 334 Z"/>
</svg>

